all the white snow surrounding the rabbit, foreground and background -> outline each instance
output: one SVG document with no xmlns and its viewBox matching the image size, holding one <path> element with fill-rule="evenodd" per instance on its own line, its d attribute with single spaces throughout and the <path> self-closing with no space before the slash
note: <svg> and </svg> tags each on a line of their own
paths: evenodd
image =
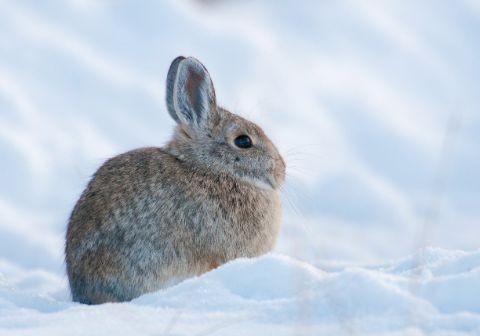
<svg viewBox="0 0 480 336">
<path fill-rule="evenodd" d="M 0 0 L 0 335 L 480 334 L 479 18 L 476 0 Z M 286 158 L 277 247 L 72 303 L 70 211 L 106 158 L 168 140 L 178 55 Z"/>
</svg>

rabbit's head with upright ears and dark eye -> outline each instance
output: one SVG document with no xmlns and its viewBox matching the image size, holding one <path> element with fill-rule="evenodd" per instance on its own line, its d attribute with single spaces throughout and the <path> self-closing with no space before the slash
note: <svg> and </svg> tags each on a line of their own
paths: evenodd
<svg viewBox="0 0 480 336">
<path fill-rule="evenodd" d="M 207 69 L 177 57 L 167 76 L 167 108 L 177 122 L 167 150 L 179 160 L 266 189 L 278 189 L 285 162 L 256 124 L 217 106 Z"/>
</svg>

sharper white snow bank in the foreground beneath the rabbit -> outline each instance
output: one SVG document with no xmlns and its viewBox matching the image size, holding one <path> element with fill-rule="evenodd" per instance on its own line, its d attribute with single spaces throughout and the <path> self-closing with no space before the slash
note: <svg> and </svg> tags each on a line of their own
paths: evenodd
<svg viewBox="0 0 480 336">
<path fill-rule="evenodd" d="M 28 277 L 9 272 L 20 280 L 0 282 L 1 335 L 480 334 L 480 250 L 430 248 L 334 272 L 269 254 L 129 303 L 99 306 L 70 302 L 64 282 L 41 293 L 46 277 L 38 274 L 29 288 L 17 287 Z M 34 293 L 35 279 L 41 294 Z"/>
</svg>

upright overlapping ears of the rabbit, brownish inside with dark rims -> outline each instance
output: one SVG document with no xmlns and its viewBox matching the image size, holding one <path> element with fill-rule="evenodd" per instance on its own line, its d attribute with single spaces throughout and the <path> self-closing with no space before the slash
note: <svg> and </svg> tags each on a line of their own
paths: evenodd
<svg viewBox="0 0 480 336">
<path fill-rule="evenodd" d="M 215 89 L 195 58 L 177 57 L 167 75 L 167 107 L 172 118 L 192 131 L 208 129 L 217 114 Z"/>
</svg>

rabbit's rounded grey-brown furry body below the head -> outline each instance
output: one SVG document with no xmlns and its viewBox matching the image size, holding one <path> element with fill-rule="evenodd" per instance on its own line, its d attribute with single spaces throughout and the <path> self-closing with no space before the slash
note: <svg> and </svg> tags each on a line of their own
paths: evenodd
<svg viewBox="0 0 480 336">
<path fill-rule="evenodd" d="M 73 299 L 125 301 L 228 260 L 273 247 L 273 190 L 196 169 L 161 148 L 108 160 L 77 202 L 67 231 Z"/>
</svg>

